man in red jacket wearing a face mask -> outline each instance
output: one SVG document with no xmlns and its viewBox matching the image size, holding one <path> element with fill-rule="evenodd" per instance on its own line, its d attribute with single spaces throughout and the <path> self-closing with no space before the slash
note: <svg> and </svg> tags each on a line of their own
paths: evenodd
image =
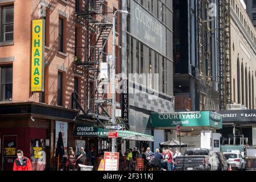
<svg viewBox="0 0 256 182">
<path fill-rule="evenodd" d="M 23 151 L 17 151 L 18 158 L 14 160 L 13 171 L 32 171 L 30 159 L 23 156 Z"/>
</svg>

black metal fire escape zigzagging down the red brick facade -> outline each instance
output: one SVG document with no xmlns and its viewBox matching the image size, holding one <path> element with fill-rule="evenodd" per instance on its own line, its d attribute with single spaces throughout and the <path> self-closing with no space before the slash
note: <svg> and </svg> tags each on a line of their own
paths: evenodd
<svg viewBox="0 0 256 182">
<path fill-rule="evenodd" d="M 98 104 L 94 101 L 105 98 L 104 84 L 100 79 L 100 63 L 106 62 L 105 46 L 112 32 L 113 10 L 100 0 L 83 1 L 84 8 L 75 11 L 75 21 L 85 28 L 83 38 L 86 46 L 75 47 L 82 52 L 83 58 L 75 57 L 73 73 L 82 76 L 85 83 L 84 96 L 74 92 L 72 94 L 73 106 L 81 112 L 79 118 L 93 118 L 94 121 L 107 121 L 109 119 L 108 104 Z M 110 17 L 111 16 L 111 17 Z M 81 38 L 82 39 L 82 38 Z"/>
</svg>

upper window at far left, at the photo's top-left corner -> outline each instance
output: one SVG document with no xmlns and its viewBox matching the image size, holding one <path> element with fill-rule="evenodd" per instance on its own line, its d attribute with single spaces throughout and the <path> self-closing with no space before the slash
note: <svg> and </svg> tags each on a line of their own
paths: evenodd
<svg viewBox="0 0 256 182">
<path fill-rule="evenodd" d="M 1 42 L 13 41 L 13 7 L 0 7 L 1 14 Z"/>
</svg>

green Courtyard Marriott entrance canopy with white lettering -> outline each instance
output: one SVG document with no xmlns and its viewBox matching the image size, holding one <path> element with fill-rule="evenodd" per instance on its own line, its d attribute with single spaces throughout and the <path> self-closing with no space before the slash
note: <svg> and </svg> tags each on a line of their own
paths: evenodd
<svg viewBox="0 0 256 182">
<path fill-rule="evenodd" d="M 151 127 L 180 126 L 209 126 L 221 129 L 220 114 L 210 111 L 180 112 L 180 113 L 151 113 Z"/>
</svg>

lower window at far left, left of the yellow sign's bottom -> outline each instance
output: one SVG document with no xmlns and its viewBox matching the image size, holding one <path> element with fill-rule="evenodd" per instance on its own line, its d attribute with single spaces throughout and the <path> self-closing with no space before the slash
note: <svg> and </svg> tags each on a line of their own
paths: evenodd
<svg viewBox="0 0 256 182">
<path fill-rule="evenodd" d="M 0 67 L 0 101 L 13 100 L 13 67 Z"/>
</svg>

